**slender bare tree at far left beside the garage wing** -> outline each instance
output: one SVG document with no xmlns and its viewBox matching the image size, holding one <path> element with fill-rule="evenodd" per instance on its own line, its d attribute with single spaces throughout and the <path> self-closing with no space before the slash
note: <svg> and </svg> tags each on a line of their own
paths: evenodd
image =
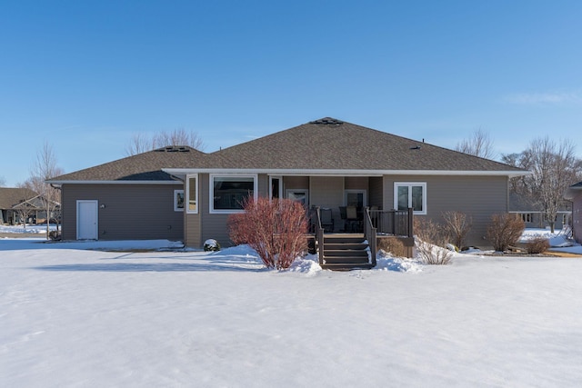
<svg viewBox="0 0 582 388">
<path fill-rule="evenodd" d="M 55 209 L 60 206 L 60 192 L 50 184 L 46 184 L 45 181 L 63 173 L 63 169 L 56 165 L 56 157 L 52 145 L 45 141 L 43 147 L 36 153 L 35 164 L 25 185 L 39 194 L 43 204 L 46 212 L 46 238 L 49 237 L 51 215 L 55 214 Z"/>
</svg>

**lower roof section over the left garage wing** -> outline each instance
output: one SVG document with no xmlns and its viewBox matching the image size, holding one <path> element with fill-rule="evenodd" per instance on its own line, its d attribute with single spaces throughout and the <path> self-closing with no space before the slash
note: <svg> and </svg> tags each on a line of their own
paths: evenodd
<svg viewBox="0 0 582 388">
<path fill-rule="evenodd" d="M 135 154 L 113 162 L 85 168 L 74 173 L 56 176 L 48 180 L 51 184 L 63 183 L 174 183 L 172 175 L 162 171 L 163 167 L 176 168 L 192 164 L 205 154 L 188 146 L 168 146 Z M 196 163 L 195 163 L 196 164 Z"/>
</svg>

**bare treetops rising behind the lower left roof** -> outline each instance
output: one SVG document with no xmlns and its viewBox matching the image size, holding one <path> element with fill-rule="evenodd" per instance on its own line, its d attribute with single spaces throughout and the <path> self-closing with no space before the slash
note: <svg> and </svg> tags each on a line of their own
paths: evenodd
<svg viewBox="0 0 582 388">
<path fill-rule="evenodd" d="M 125 147 L 125 154 L 128 156 L 141 154 L 169 145 L 188 145 L 200 151 L 205 147 L 202 138 L 196 132 L 186 132 L 185 129 L 181 128 L 172 132 L 160 132 L 151 139 L 144 134 L 134 134 L 130 143 Z"/>
</svg>

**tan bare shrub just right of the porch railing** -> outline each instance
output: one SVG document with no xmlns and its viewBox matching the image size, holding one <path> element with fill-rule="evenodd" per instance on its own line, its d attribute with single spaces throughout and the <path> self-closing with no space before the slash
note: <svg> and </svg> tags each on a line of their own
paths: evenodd
<svg viewBox="0 0 582 388">
<path fill-rule="evenodd" d="M 444 265 L 451 261 L 453 253 L 445 248 L 446 234 L 440 225 L 430 220 L 415 218 L 416 254 L 424 264 Z"/>
</svg>

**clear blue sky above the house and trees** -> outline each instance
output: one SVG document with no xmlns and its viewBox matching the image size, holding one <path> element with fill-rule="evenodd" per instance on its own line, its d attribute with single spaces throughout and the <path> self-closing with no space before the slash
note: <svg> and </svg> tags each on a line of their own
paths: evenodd
<svg viewBox="0 0 582 388">
<path fill-rule="evenodd" d="M 325 116 L 582 155 L 580 20 L 580 1 L 3 2 L 0 178 L 25 181 L 45 140 L 68 173 L 137 133 L 211 152 Z"/>
</svg>

